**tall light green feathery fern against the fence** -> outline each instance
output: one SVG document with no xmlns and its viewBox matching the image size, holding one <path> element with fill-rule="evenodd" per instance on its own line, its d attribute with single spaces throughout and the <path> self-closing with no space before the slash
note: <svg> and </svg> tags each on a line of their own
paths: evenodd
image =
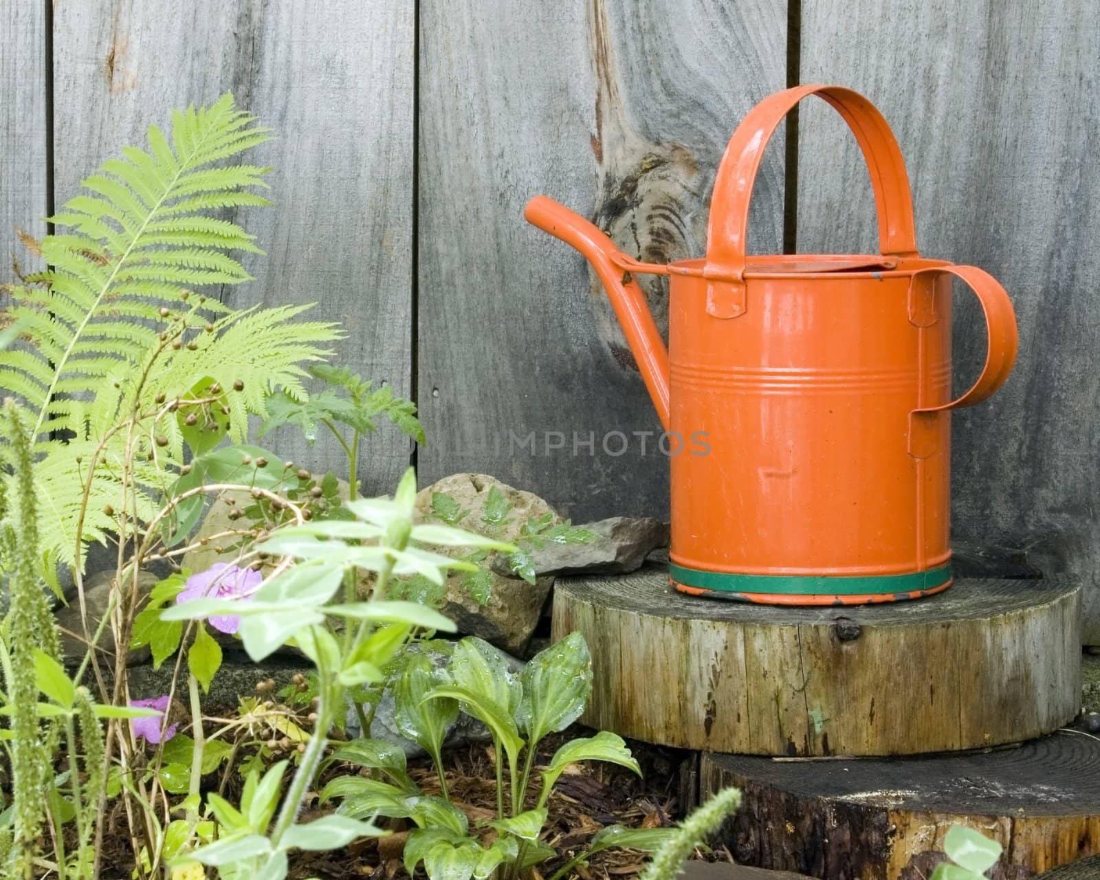
<svg viewBox="0 0 1100 880">
<path fill-rule="evenodd" d="M 333 324 L 292 326 L 301 309 L 234 312 L 216 295 L 251 279 L 241 253 L 262 253 L 253 235 L 212 215 L 271 204 L 256 191 L 268 169 L 232 164 L 268 139 L 231 95 L 176 111 L 169 133 L 151 127 L 147 148 L 125 147 L 82 182 L 52 218 L 57 234 L 41 243 L 48 268 L 11 292 L 23 344 L 0 351 L 0 386 L 30 429 L 47 560 L 80 566 L 82 546 L 118 526 L 105 507 L 153 515 L 169 482 L 164 469 L 184 454 L 158 395 L 184 397 L 204 378 L 244 382 L 230 416 L 243 438 L 248 416 L 263 413 L 263 391 L 282 383 L 304 393 L 298 364 L 336 338 Z M 142 421 L 138 449 L 154 464 L 139 466 L 127 432 L 110 433 L 130 419 Z M 164 448 L 153 448 L 154 431 Z M 10 450 L 0 443 L 3 460 Z M 10 474 L 0 480 L 11 488 Z"/>
</svg>

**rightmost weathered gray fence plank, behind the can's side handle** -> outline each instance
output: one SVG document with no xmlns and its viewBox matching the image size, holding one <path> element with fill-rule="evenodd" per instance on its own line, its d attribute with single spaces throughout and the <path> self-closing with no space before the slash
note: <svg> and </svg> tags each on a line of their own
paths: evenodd
<svg viewBox="0 0 1100 880">
<path fill-rule="evenodd" d="M 1027 551 L 1079 575 L 1086 641 L 1100 641 L 1100 20 L 1047 4 L 803 0 L 803 81 L 866 94 L 908 161 L 922 253 L 997 276 L 1016 307 L 1008 385 L 954 420 L 955 536 Z M 820 103 L 814 101 L 813 103 Z M 828 108 L 800 145 L 799 248 L 868 252 L 873 207 L 858 150 Z M 956 385 L 985 328 L 956 290 Z"/>
</svg>

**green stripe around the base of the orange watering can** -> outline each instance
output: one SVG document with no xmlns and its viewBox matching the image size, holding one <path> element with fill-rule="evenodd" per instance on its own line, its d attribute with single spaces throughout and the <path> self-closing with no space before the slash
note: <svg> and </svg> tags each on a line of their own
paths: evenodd
<svg viewBox="0 0 1100 880">
<path fill-rule="evenodd" d="M 700 571 L 669 563 L 669 576 L 684 586 L 716 590 L 723 593 L 785 593 L 790 595 L 858 596 L 910 593 L 941 586 L 952 576 L 950 563 L 912 574 L 872 574 L 868 576 L 823 576 L 790 574 L 729 574 Z"/>
</svg>

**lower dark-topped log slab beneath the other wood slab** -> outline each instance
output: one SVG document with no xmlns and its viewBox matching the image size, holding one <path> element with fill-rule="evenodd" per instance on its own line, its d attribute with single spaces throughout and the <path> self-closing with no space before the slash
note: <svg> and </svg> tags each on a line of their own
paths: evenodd
<svg viewBox="0 0 1100 880">
<path fill-rule="evenodd" d="M 824 880 L 931 877 L 956 824 L 1004 847 L 992 880 L 1025 880 L 1100 853 L 1100 741 L 1075 730 L 917 758 L 704 755 L 701 799 L 726 785 L 744 800 L 715 840 L 738 861 Z"/>
</svg>

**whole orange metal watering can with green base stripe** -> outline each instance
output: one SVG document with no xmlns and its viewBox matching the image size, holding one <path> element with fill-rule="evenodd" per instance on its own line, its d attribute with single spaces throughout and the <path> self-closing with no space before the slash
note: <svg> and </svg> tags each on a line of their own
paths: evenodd
<svg viewBox="0 0 1100 880">
<path fill-rule="evenodd" d="M 859 142 L 881 255 L 745 253 L 765 147 L 807 95 L 836 108 Z M 679 590 L 831 605 L 950 585 L 950 414 L 1008 378 L 1015 314 L 982 270 L 917 253 L 901 151 L 870 101 L 816 85 L 757 105 L 718 168 L 704 260 L 639 263 L 546 196 L 526 217 L 592 263 L 681 446 L 671 457 Z M 637 273 L 670 276 L 668 351 Z M 978 296 L 988 328 L 981 374 L 954 400 L 952 276 Z"/>
</svg>

